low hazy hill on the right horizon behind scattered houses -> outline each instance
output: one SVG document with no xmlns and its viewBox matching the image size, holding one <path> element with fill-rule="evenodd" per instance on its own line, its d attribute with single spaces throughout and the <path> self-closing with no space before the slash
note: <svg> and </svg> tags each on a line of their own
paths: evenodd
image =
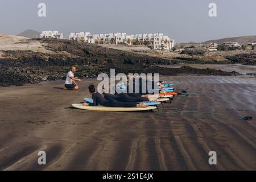
<svg viewBox="0 0 256 182">
<path fill-rule="evenodd" d="M 217 40 L 208 40 L 204 42 L 205 44 L 209 43 L 217 43 L 223 44 L 226 42 L 238 42 L 240 44 L 249 44 L 249 43 L 256 43 L 256 36 L 238 36 L 235 38 L 224 38 L 224 39 L 217 39 Z"/>
</svg>

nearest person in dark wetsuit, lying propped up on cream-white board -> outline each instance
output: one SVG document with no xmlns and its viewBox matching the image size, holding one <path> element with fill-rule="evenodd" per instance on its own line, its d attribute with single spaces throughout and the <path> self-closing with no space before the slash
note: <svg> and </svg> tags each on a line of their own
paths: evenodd
<svg viewBox="0 0 256 182">
<path fill-rule="evenodd" d="M 97 106 L 98 104 L 105 107 L 147 107 L 144 102 L 119 102 L 116 100 L 106 100 L 100 93 L 95 92 L 94 85 L 88 87 L 89 92 L 92 94 L 93 104 L 84 103 L 85 106 Z"/>
</svg>

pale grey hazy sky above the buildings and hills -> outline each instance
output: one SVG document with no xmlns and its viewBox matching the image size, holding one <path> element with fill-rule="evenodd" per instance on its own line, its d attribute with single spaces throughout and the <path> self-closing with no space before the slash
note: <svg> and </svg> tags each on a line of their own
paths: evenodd
<svg viewBox="0 0 256 182">
<path fill-rule="evenodd" d="M 46 17 L 38 4 L 46 3 Z M 217 4 L 210 18 L 208 5 Z M 1 0 L 0 33 L 32 29 L 91 33 L 162 32 L 176 42 L 256 35 L 255 0 Z"/>
</svg>

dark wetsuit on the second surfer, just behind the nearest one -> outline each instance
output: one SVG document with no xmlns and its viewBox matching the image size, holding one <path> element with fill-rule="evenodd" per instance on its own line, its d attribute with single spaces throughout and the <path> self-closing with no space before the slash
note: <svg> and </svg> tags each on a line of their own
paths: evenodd
<svg viewBox="0 0 256 182">
<path fill-rule="evenodd" d="M 147 102 L 147 101 L 149 101 L 148 98 L 131 97 L 127 94 L 113 95 L 110 93 L 105 93 L 104 97 L 106 98 L 106 100 L 116 100 L 119 102 Z"/>
</svg>

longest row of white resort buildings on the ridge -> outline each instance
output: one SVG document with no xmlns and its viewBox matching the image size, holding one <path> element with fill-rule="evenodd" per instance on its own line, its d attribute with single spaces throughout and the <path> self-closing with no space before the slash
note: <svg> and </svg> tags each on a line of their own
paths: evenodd
<svg viewBox="0 0 256 182">
<path fill-rule="evenodd" d="M 174 39 L 168 36 L 155 34 L 132 34 L 110 33 L 110 34 L 90 34 L 89 32 L 73 32 L 69 35 L 69 40 L 92 44 L 125 44 L 128 46 L 151 46 L 152 49 L 171 50 L 174 47 Z"/>
</svg>

